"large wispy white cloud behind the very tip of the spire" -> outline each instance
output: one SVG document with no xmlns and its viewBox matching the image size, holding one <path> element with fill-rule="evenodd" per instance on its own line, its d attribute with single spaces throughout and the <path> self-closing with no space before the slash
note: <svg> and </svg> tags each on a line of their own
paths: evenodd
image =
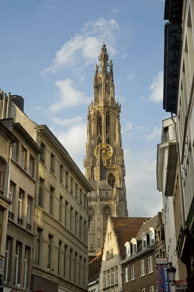
<svg viewBox="0 0 194 292">
<path fill-rule="evenodd" d="M 80 69 L 94 63 L 99 55 L 104 34 L 109 53 L 115 55 L 116 50 L 113 45 L 116 42 L 115 35 L 118 30 L 119 25 L 115 19 L 89 20 L 84 24 L 81 34 L 72 37 L 56 52 L 51 66 L 45 68 L 42 73 L 55 73 L 64 67 Z"/>
</svg>

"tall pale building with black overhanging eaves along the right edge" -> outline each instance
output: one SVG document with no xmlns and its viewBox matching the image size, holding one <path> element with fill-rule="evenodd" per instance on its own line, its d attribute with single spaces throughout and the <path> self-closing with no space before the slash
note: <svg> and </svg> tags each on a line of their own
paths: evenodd
<svg viewBox="0 0 194 292">
<path fill-rule="evenodd" d="M 163 108 L 177 115 L 177 196 L 182 207 L 176 250 L 186 264 L 188 291 L 194 291 L 194 2 L 166 0 L 164 19 L 169 22 L 164 29 Z"/>
</svg>

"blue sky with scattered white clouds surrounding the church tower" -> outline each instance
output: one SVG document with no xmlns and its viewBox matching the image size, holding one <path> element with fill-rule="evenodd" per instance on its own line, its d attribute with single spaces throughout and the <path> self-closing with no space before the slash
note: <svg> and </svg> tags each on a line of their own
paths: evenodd
<svg viewBox="0 0 194 292">
<path fill-rule="evenodd" d="M 161 142 L 163 0 L 1 1 L 0 88 L 25 99 L 83 170 L 88 104 L 105 34 L 121 103 L 129 216 L 162 208 L 156 187 Z"/>
</svg>

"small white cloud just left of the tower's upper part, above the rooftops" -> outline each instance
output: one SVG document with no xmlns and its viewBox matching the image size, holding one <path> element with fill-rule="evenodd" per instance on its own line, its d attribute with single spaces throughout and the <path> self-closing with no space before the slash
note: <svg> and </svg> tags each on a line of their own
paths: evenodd
<svg viewBox="0 0 194 292">
<path fill-rule="evenodd" d="M 55 82 L 59 89 L 59 101 L 50 106 L 49 110 L 57 112 L 59 110 L 75 107 L 81 104 L 88 104 L 92 97 L 86 96 L 85 91 L 79 91 L 75 88 L 75 83 L 67 78 Z"/>
</svg>

